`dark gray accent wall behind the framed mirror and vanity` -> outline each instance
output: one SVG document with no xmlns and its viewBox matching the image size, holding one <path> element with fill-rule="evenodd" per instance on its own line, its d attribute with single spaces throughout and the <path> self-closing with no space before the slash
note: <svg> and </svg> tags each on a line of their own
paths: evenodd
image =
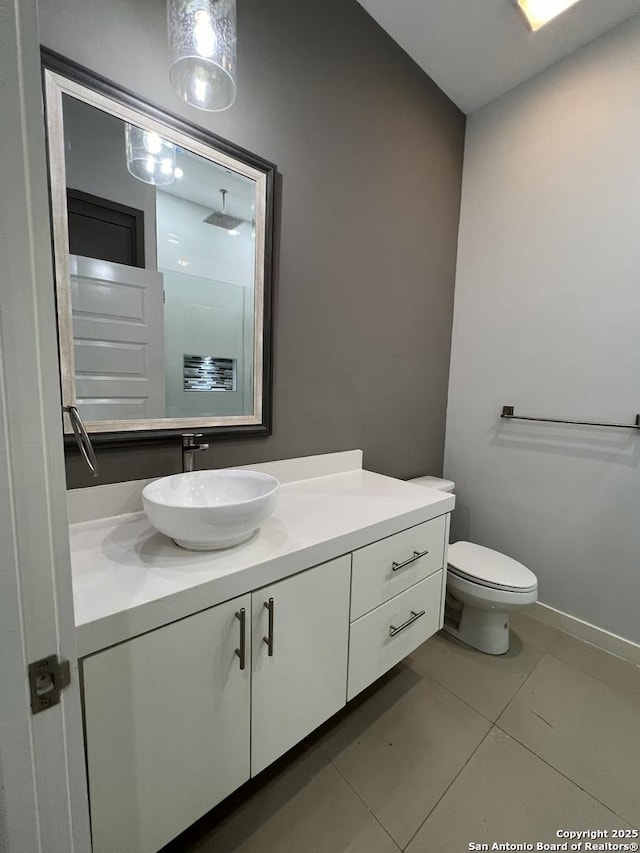
<svg viewBox="0 0 640 853">
<path fill-rule="evenodd" d="M 238 97 L 182 103 L 159 0 L 40 0 L 42 41 L 276 163 L 273 436 L 203 467 L 359 447 L 395 476 L 442 470 L 465 119 L 356 0 L 241 0 Z M 179 470 L 100 454 L 102 482 Z M 68 482 L 90 480 L 74 455 Z M 95 482 L 95 481 L 93 481 Z"/>
</svg>

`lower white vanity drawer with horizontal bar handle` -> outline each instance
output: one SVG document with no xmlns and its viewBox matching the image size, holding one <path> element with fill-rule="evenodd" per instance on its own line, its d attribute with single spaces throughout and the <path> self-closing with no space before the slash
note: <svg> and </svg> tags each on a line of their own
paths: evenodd
<svg viewBox="0 0 640 853">
<path fill-rule="evenodd" d="M 438 571 L 352 623 L 347 699 L 440 628 L 442 581 L 443 573 Z M 422 615 L 416 618 L 416 614 Z"/>
</svg>

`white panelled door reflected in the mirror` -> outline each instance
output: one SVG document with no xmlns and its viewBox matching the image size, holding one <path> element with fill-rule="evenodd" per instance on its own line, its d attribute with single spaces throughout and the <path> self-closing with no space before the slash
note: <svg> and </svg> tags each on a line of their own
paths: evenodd
<svg viewBox="0 0 640 853">
<path fill-rule="evenodd" d="M 69 260 L 80 416 L 164 418 L 162 274 L 80 255 Z"/>
</svg>

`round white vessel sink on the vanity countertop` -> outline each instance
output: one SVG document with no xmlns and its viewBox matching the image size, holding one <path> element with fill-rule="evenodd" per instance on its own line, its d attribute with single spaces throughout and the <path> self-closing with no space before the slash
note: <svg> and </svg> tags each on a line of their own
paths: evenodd
<svg viewBox="0 0 640 853">
<path fill-rule="evenodd" d="M 176 545 L 195 551 L 244 542 L 275 510 L 280 483 L 259 471 L 190 471 L 149 483 L 149 521 Z"/>
</svg>

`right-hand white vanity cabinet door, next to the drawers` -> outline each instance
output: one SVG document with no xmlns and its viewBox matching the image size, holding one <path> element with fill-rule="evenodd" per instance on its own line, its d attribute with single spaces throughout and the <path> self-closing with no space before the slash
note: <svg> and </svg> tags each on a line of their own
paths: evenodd
<svg viewBox="0 0 640 853">
<path fill-rule="evenodd" d="M 339 557 L 252 593 L 252 775 L 346 703 L 350 567 Z"/>
</svg>

